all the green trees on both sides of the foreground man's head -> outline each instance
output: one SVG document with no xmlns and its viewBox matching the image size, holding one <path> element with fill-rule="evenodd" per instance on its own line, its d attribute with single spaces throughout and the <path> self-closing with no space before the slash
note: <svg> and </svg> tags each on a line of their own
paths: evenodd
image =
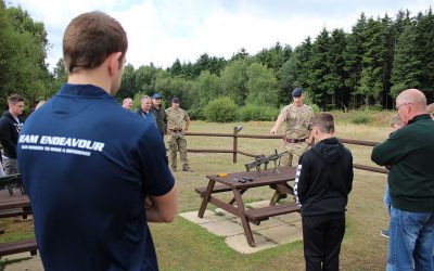
<svg viewBox="0 0 434 271">
<path fill-rule="evenodd" d="M 50 70 L 44 60 L 50 43 L 43 23 L 22 8 L 0 1 L 0 103 L 11 93 L 30 103 L 49 99 L 66 80 L 63 60 Z M 244 48 L 230 59 L 203 53 L 195 62 L 175 60 L 167 68 L 153 63 L 127 64 L 117 99 L 161 92 L 166 103 L 181 99 L 195 118 L 216 99 L 238 107 L 279 108 L 291 91 L 303 87 L 308 103 L 322 109 L 392 108 L 406 88 L 419 88 L 434 99 L 434 15 L 431 8 L 416 15 L 399 11 L 394 18 L 357 18 L 349 33 L 328 30 L 295 48 L 277 42 L 250 54 Z M 168 104 L 166 104 L 168 105 Z"/>
</svg>

